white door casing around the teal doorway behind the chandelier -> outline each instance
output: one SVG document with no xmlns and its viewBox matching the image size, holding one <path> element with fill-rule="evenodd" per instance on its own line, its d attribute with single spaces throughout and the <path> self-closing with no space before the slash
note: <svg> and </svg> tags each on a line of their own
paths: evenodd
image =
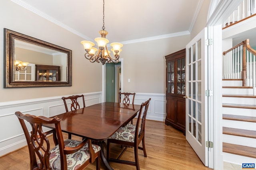
<svg viewBox="0 0 256 170">
<path fill-rule="evenodd" d="M 119 59 L 121 63 L 121 89 L 124 88 L 124 59 Z M 101 102 L 106 101 L 106 64 L 102 65 L 102 98 Z"/>
</svg>

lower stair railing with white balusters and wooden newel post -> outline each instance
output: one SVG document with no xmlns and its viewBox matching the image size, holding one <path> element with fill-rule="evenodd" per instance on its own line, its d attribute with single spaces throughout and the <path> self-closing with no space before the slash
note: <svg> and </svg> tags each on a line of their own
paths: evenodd
<svg viewBox="0 0 256 170">
<path fill-rule="evenodd" d="M 256 50 L 246 39 L 223 52 L 223 79 L 242 79 L 242 86 L 256 87 Z M 255 91 L 255 90 L 254 90 Z M 256 93 L 256 92 L 255 92 Z"/>
</svg>

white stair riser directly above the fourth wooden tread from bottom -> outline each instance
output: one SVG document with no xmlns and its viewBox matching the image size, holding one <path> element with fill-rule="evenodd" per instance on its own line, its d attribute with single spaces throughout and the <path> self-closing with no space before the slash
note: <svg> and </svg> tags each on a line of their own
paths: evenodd
<svg viewBox="0 0 256 170">
<path fill-rule="evenodd" d="M 222 103 L 256 105 L 256 98 L 222 97 Z"/>
</svg>

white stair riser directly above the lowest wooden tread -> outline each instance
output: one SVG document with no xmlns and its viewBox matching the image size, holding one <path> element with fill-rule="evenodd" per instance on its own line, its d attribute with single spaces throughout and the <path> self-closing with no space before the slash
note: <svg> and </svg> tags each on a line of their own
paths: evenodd
<svg viewBox="0 0 256 170">
<path fill-rule="evenodd" d="M 247 147 L 255 147 L 256 139 L 248 137 L 240 137 L 234 135 L 222 135 L 222 140 L 225 143 L 232 143 L 236 145 L 243 145 Z"/>
</svg>

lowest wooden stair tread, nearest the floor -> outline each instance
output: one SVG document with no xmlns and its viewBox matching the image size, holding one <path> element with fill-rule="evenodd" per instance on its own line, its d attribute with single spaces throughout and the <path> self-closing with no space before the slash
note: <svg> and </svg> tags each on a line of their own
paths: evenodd
<svg viewBox="0 0 256 170">
<path fill-rule="evenodd" d="M 231 143 L 222 143 L 222 151 L 231 154 L 237 154 L 250 158 L 256 158 L 256 148 L 235 145 Z"/>
</svg>

